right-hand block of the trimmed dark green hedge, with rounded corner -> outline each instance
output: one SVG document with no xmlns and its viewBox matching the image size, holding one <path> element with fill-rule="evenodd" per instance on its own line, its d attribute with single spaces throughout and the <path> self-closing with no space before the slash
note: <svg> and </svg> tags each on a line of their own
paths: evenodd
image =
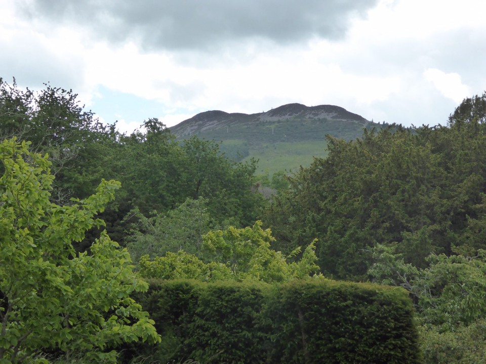
<svg viewBox="0 0 486 364">
<path fill-rule="evenodd" d="M 262 316 L 272 323 L 272 363 L 419 361 L 412 304 L 401 289 L 294 281 L 274 288 Z"/>
</svg>

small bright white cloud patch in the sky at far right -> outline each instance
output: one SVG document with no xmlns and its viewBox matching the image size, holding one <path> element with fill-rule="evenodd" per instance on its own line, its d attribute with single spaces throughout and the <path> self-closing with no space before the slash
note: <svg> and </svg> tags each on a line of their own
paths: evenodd
<svg viewBox="0 0 486 364">
<path fill-rule="evenodd" d="M 429 68 L 424 71 L 424 77 L 443 96 L 458 104 L 471 94 L 470 87 L 462 83 L 461 76 L 457 73 L 446 73 L 436 68 Z"/>
</svg>

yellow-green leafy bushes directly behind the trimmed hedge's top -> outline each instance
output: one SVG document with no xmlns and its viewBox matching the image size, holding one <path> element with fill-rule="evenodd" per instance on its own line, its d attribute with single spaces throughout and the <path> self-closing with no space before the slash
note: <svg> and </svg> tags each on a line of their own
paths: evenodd
<svg viewBox="0 0 486 364">
<path fill-rule="evenodd" d="M 168 252 L 150 260 L 140 259 L 140 274 L 146 278 L 192 278 L 203 281 L 235 280 L 284 282 L 310 278 L 319 270 L 316 264 L 315 241 L 301 254 L 295 249 L 285 256 L 274 251 L 269 229 L 262 229 L 261 221 L 253 226 L 211 231 L 203 237 L 200 258 L 183 250 Z M 295 257 L 301 254 L 300 259 Z"/>
</svg>

